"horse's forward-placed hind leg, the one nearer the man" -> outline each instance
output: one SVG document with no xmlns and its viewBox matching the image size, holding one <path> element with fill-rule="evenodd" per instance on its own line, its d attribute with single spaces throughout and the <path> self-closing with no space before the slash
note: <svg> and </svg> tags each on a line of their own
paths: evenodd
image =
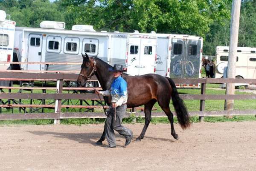
<svg viewBox="0 0 256 171">
<path fill-rule="evenodd" d="M 157 100 L 153 99 L 144 105 L 145 125 L 143 127 L 142 132 L 140 133 L 140 136 L 136 139 L 136 141 L 140 141 L 141 139 L 144 138 L 145 132 L 147 131 L 148 125 L 151 121 L 151 110 L 156 102 Z"/>
</svg>

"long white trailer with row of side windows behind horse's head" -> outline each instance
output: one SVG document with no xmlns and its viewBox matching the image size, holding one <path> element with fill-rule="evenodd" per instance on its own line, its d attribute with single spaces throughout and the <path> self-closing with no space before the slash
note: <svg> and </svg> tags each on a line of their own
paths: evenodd
<svg viewBox="0 0 256 171">
<path fill-rule="evenodd" d="M 44 21 L 41 28 L 16 27 L 15 48 L 20 62 L 82 63 L 87 53 L 109 63 L 122 64 L 127 74 L 154 73 L 157 37 L 101 31 L 92 26 L 75 25 L 64 30 L 63 22 Z M 42 28 L 43 27 L 43 28 Z M 21 65 L 23 70 L 80 70 L 78 65 Z"/>
</svg>

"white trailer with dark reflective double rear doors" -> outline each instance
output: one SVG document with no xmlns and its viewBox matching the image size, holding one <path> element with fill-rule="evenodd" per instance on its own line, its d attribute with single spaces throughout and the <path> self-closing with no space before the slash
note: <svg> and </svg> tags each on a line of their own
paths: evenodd
<svg viewBox="0 0 256 171">
<path fill-rule="evenodd" d="M 183 34 L 155 35 L 157 36 L 157 74 L 171 78 L 201 77 L 202 37 Z"/>
</svg>

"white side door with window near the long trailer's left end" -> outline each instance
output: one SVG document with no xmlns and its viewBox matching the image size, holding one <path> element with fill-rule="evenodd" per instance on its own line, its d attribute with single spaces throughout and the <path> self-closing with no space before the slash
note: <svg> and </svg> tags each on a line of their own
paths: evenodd
<svg viewBox="0 0 256 171">
<path fill-rule="evenodd" d="M 28 62 L 41 62 L 42 35 L 29 34 Z M 28 65 L 28 70 L 40 70 L 40 64 Z"/>
</svg>

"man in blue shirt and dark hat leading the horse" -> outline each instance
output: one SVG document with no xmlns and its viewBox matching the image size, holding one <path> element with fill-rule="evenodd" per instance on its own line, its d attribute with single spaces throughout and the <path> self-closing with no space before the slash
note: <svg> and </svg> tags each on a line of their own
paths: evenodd
<svg viewBox="0 0 256 171">
<path fill-rule="evenodd" d="M 111 106 L 108 111 L 107 120 L 105 123 L 106 138 L 108 145 L 105 148 L 115 148 L 116 147 L 116 137 L 114 130 L 116 130 L 120 135 L 125 137 L 125 147 L 130 144 L 133 137 L 132 131 L 125 128 L 121 122 L 124 117 L 125 111 L 127 109 L 127 83 L 122 78 L 122 65 L 114 65 L 110 68 L 113 71 L 113 77 L 115 78 L 111 84 L 111 89 L 106 91 L 95 90 L 97 94 L 102 94 L 103 96 L 111 96 Z"/>
</svg>

